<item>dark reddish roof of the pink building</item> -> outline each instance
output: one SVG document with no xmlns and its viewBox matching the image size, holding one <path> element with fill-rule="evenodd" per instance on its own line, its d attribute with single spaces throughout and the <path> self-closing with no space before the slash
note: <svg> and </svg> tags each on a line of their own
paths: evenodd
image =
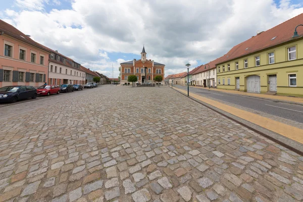
<svg viewBox="0 0 303 202">
<path fill-rule="evenodd" d="M 45 46 L 41 45 L 40 43 L 34 41 L 29 36 L 25 35 L 21 31 L 19 31 L 14 26 L 10 25 L 9 23 L 4 22 L 3 20 L 0 20 L 0 32 L 4 32 L 4 34 L 7 34 L 9 36 L 12 36 L 18 40 L 21 40 L 25 43 L 28 43 L 30 45 L 33 45 L 37 48 L 42 49 L 45 52 L 49 52 Z"/>
</svg>

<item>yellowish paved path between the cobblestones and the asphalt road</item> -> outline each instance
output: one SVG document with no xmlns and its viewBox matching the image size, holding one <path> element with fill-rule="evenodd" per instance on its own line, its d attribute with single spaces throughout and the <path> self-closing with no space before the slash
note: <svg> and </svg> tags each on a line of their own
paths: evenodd
<svg viewBox="0 0 303 202">
<path fill-rule="evenodd" d="M 175 88 L 175 89 L 182 92 L 182 93 L 187 94 L 187 91 L 185 91 L 185 90 L 181 90 L 179 88 Z M 242 119 L 244 119 L 246 121 L 249 121 L 251 123 L 257 124 L 257 125 L 259 125 L 263 128 L 266 128 L 268 130 L 271 130 L 273 132 L 276 132 L 280 135 L 283 135 L 285 137 L 288 137 L 292 140 L 295 140 L 295 141 L 303 144 L 303 135 L 302 135 L 303 130 L 302 129 L 299 129 L 299 128 L 296 128 L 296 127 L 293 127 L 293 126 L 289 126 L 287 124 L 280 123 L 278 121 L 274 121 L 272 119 L 269 119 L 269 118 L 251 113 L 251 112 L 247 112 L 247 111 L 244 111 L 244 110 L 240 110 L 240 109 L 222 104 L 222 103 L 217 102 L 213 99 L 209 99 L 209 98 L 206 98 L 206 97 L 203 97 L 203 96 L 199 96 L 199 95 L 197 95 L 195 93 L 192 93 L 192 92 L 189 92 L 189 96 L 194 97 L 194 98 L 196 98 L 198 100 L 201 100 L 202 102 L 207 103 L 211 106 L 214 106 L 214 107 L 216 107 L 220 110 L 228 112 L 228 113 L 230 113 L 234 116 L 242 118 Z"/>
</svg>

